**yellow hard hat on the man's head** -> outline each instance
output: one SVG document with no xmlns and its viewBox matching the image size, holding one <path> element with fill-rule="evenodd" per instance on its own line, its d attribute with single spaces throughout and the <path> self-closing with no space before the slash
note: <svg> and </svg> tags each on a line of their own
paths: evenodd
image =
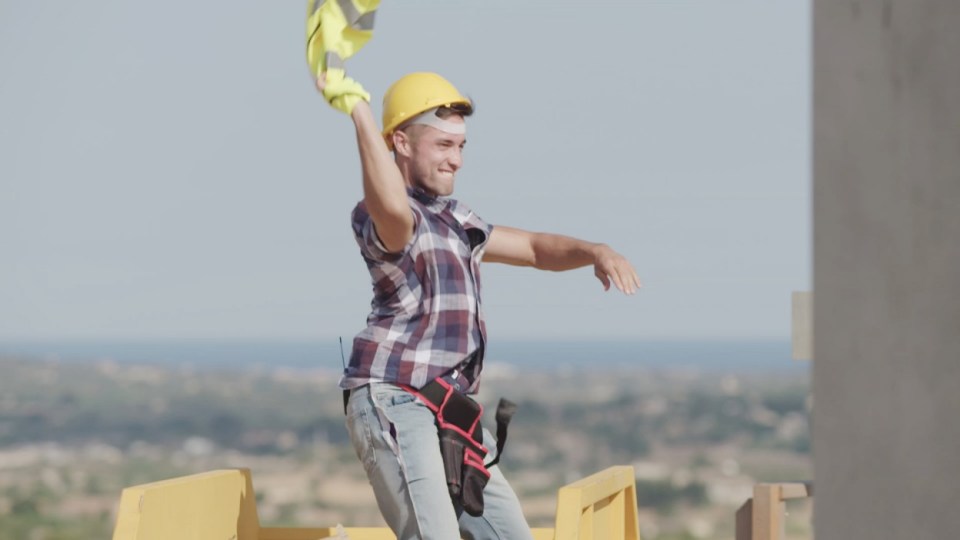
<svg viewBox="0 0 960 540">
<path fill-rule="evenodd" d="M 387 147 L 393 149 L 390 135 L 400 124 L 434 107 L 451 107 L 470 114 L 473 102 L 436 73 L 411 73 L 393 83 L 383 95 L 383 137 Z"/>
</svg>

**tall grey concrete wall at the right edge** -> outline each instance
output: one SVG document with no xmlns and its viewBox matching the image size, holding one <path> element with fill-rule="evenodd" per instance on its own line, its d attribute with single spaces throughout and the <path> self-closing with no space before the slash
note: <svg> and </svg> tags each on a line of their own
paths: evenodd
<svg viewBox="0 0 960 540">
<path fill-rule="evenodd" d="M 960 0 L 814 0 L 820 540 L 960 538 Z"/>
</svg>

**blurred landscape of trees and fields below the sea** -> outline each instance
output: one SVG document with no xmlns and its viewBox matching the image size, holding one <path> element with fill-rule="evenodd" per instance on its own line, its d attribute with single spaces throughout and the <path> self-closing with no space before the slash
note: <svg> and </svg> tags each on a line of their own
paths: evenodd
<svg viewBox="0 0 960 540">
<path fill-rule="evenodd" d="M 730 539 L 754 483 L 812 480 L 808 364 L 775 356 L 491 357 L 479 401 L 488 426 L 500 396 L 519 404 L 501 467 L 532 526 L 560 486 L 629 464 L 645 540 Z M 225 467 L 252 470 L 264 524 L 382 525 L 338 370 L 308 365 L 0 354 L 0 540 L 109 538 L 124 487 Z M 812 538 L 811 511 L 788 506 L 788 538 Z"/>
</svg>

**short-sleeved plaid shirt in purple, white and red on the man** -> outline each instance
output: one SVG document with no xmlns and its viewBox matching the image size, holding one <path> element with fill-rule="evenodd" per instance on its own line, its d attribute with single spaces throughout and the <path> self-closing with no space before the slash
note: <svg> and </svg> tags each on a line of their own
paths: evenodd
<svg viewBox="0 0 960 540">
<path fill-rule="evenodd" d="M 493 227 L 456 200 L 407 194 L 414 234 L 400 253 L 383 247 L 363 202 L 353 210 L 373 300 L 340 387 L 385 381 L 421 388 L 479 350 L 466 374 L 475 391 L 486 339 L 480 260 Z"/>
</svg>

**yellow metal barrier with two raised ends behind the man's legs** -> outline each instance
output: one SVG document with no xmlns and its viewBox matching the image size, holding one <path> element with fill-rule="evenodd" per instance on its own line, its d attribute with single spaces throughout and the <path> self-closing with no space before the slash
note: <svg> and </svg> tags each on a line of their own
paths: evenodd
<svg viewBox="0 0 960 540">
<path fill-rule="evenodd" d="M 396 540 L 387 528 L 345 527 L 349 540 Z M 210 471 L 129 487 L 113 540 L 321 540 L 336 527 L 261 527 L 248 469 Z M 556 529 L 535 540 L 639 540 L 633 467 L 618 466 L 560 488 Z"/>
</svg>

